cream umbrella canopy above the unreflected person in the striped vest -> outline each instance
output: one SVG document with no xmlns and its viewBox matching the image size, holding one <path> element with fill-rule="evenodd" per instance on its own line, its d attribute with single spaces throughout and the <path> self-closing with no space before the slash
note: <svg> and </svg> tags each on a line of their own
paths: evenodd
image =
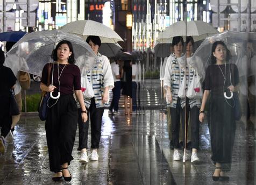
<svg viewBox="0 0 256 185">
<path fill-rule="evenodd" d="M 80 35 L 85 40 L 88 35 L 98 36 L 102 43 L 124 41 L 115 31 L 93 20 L 76 20 L 61 27 L 62 31 Z"/>
</svg>

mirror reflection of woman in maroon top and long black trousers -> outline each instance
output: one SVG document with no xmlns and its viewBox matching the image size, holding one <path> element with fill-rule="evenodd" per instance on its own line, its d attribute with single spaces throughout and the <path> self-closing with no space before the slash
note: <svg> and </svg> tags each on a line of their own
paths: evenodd
<svg viewBox="0 0 256 185">
<path fill-rule="evenodd" d="M 214 181 L 229 180 L 225 172 L 231 169 L 234 135 L 236 122 L 232 113 L 234 106 L 233 98 L 226 99 L 224 91 L 238 90 L 239 75 L 237 66 L 229 64 L 230 52 L 222 41 L 216 41 L 211 49 L 211 65 L 205 73 L 205 90 L 202 106 L 200 109 L 200 122 L 204 119 L 205 104 L 210 96 L 208 108 L 210 137 L 211 137 L 211 159 L 215 163 L 215 172 L 212 175 Z M 232 82 L 232 85 L 231 82 Z"/>
</svg>

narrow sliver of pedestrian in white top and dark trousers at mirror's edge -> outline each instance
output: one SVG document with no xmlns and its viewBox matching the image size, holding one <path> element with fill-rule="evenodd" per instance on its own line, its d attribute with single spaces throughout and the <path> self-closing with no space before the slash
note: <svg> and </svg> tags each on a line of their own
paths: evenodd
<svg viewBox="0 0 256 185">
<path fill-rule="evenodd" d="M 132 115 L 137 111 L 137 82 L 138 82 L 138 65 L 132 61 Z"/>
</svg>

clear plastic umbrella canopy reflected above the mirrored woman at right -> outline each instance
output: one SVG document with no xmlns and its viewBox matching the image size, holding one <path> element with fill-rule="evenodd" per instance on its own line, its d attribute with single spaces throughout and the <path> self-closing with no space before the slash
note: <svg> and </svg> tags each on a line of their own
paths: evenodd
<svg viewBox="0 0 256 185">
<path fill-rule="evenodd" d="M 246 45 L 249 40 L 249 34 L 245 32 L 225 31 L 206 38 L 193 55 L 191 65 L 197 70 L 198 74 L 204 78 L 205 69 L 211 63 L 212 44 L 219 40 L 223 41 L 227 49 L 229 49 L 231 54 L 229 62 L 237 65 L 239 76 L 246 76 L 250 63 L 245 59 Z"/>
</svg>

